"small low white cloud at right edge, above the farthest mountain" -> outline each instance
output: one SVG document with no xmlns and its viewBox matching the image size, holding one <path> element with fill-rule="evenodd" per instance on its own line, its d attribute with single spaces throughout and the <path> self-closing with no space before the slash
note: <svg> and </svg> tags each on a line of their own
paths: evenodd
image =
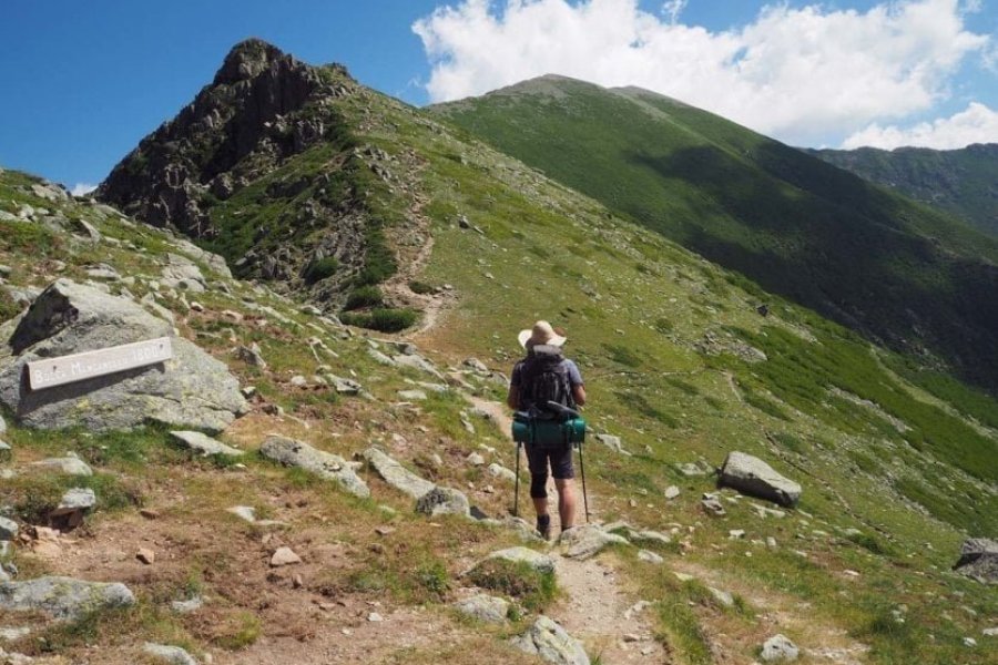
<svg viewBox="0 0 998 665">
<path fill-rule="evenodd" d="M 894 150 L 905 145 L 954 150 L 971 143 L 998 143 L 998 111 L 971 102 L 950 117 L 923 122 L 909 129 L 883 127 L 876 123 L 846 139 L 846 150 L 869 145 Z"/>
</svg>

